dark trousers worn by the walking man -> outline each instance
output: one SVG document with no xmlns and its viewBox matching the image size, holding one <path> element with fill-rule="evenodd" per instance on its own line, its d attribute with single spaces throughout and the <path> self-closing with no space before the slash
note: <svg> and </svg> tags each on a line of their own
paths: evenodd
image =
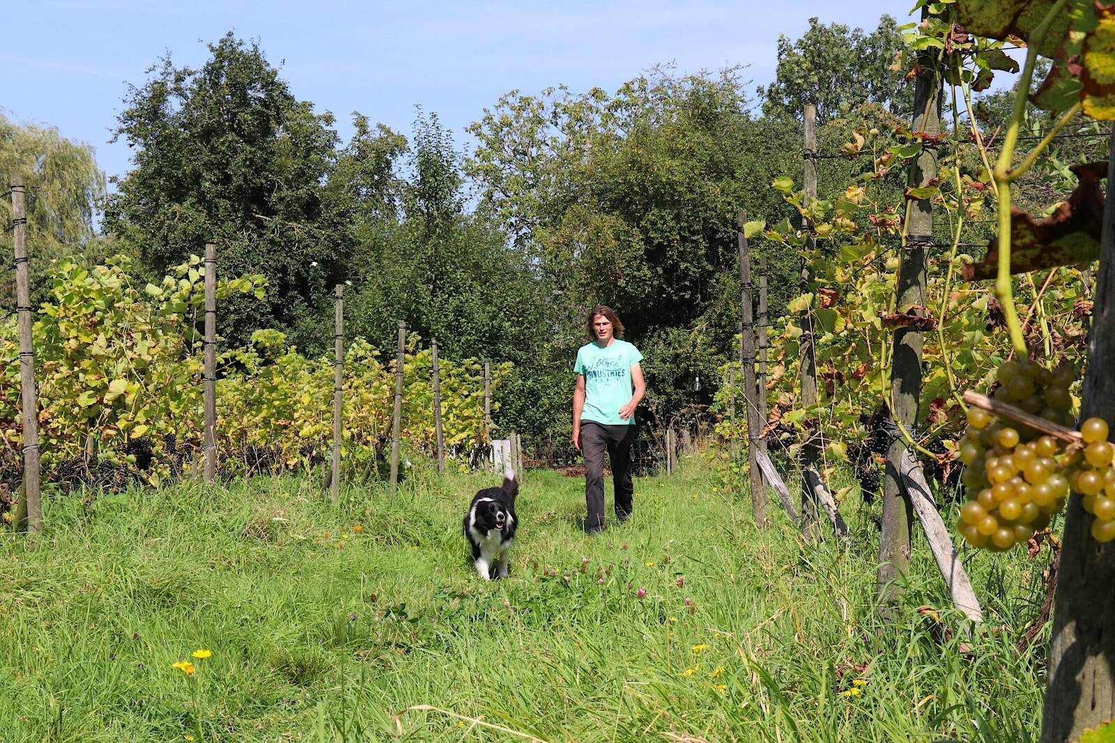
<svg viewBox="0 0 1115 743">
<path fill-rule="evenodd" d="M 631 515 L 631 444 L 634 426 L 604 426 L 594 421 L 581 423 L 581 451 L 584 453 L 584 505 L 588 508 L 585 529 L 604 526 L 604 451 L 612 466 L 615 486 L 615 518 Z"/>
</svg>

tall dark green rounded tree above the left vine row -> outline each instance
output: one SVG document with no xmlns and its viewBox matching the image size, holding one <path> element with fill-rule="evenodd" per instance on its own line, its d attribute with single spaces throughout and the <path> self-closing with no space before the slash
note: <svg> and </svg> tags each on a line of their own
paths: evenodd
<svg viewBox="0 0 1115 743">
<path fill-rule="evenodd" d="M 132 88 L 116 138 L 135 149 L 135 168 L 105 226 L 154 273 L 207 242 L 222 273 L 262 273 L 264 300 L 222 307 L 221 332 L 239 343 L 261 325 L 290 329 L 345 274 L 343 211 L 323 203 L 337 134 L 332 116 L 297 100 L 256 43 L 230 32 L 209 48 L 200 69 L 167 57 Z"/>
</svg>

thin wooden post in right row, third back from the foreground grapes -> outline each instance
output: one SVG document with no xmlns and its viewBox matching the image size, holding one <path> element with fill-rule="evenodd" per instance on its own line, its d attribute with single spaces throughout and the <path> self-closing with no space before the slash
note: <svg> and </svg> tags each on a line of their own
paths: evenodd
<svg viewBox="0 0 1115 743">
<path fill-rule="evenodd" d="M 817 107 L 813 104 L 807 104 L 805 106 L 805 149 L 802 155 L 803 167 L 804 167 L 804 178 L 803 185 L 805 186 L 805 202 L 806 204 L 812 203 L 813 199 L 817 197 Z M 809 218 L 805 219 L 805 227 L 809 228 L 812 232 L 813 221 Z M 805 261 L 802 262 L 802 281 L 799 284 L 801 293 L 805 294 L 813 291 L 813 264 L 812 256 L 813 251 L 816 245 L 814 243 L 813 236 L 806 238 L 805 242 Z M 813 303 L 802 311 L 801 317 L 802 326 L 802 338 L 798 341 L 798 354 L 799 354 L 799 366 L 798 366 L 798 387 L 801 389 L 801 399 L 798 400 L 799 405 L 803 410 L 808 410 L 817 404 L 817 360 L 816 352 L 814 349 L 814 334 L 813 334 Z M 807 414 L 804 420 L 805 426 L 805 441 L 802 447 L 801 454 L 801 466 L 802 466 L 802 534 L 809 537 L 815 531 L 815 526 L 817 521 L 817 504 L 814 500 L 813 488 L 809 485 L 808 478 L 805 476 L 806 470 L 815 468 L 817 459 L 820 459 L 820 447 L 817 446 L 817 436 L 820 434 L 818 423 L 813 418 L 813 416 Z"/>
</svg>

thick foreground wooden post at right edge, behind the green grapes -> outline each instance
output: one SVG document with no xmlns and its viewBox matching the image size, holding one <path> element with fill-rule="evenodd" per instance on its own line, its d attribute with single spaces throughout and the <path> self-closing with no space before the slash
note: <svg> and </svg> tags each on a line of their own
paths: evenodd
<svg viewBox="0 0 1115 743">
<path fill-rule="evenodd" d="M 1115 183 L 1115 157 L 1107 183 Z M 1080 419 L 1098 416 L 1115 428 L 1115 188 L 1107 189 L 1103 221 Z M 1054 595 L 1041 743 L 1076 740 L 1115 717 L 1115 542 L 1093 539 L 1093 520 L 1074 492 Z"/>
</svg>

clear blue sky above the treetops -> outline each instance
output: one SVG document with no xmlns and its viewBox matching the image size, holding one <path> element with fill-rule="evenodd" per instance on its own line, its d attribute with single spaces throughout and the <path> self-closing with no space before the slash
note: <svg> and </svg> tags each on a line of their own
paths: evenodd
<svg viewBox="0 0 1115 743">
<path fill-rule="evenodd" d="M 614 90 L 659 62 L 682 72 L 749 65 L 774 75 L 778 35 L 808 18 L 873 29 L 905 22 L 912 0 L 778 2 L 243 2 L 52 1 L 4 9 L 0 108 L 22 123 L 57 126 L 91 144 L 108 175 L 128 167 L 125 143 L 108 144 L 128 85 L 171 53 L 200 65 L 205 43 L 233 30 L 258 39 L 300 99 L 338 118 L 349 113 L 409 135 L 414 106 L 436 111 L 458 147 L 464 127 L 512 89 Z"/>
</svg>

